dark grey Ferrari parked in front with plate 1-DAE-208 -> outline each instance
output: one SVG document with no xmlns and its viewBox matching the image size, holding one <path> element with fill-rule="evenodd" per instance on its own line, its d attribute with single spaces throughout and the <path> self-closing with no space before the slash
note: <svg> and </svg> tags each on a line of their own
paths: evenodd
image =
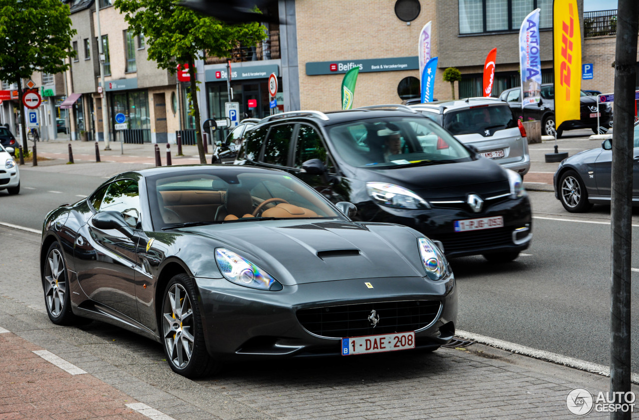
<svg viewBox="0 0 639 420">
<path fill-rule="evenodd" d="M 443 253 L 414 229 L 353 222 L 356 211 L 274 169 L 122 173 L 47 215 L 49 318 L 154 339 L 186 377 L 227 359 L 448 343 L 457 295 Z"/>
</svg>

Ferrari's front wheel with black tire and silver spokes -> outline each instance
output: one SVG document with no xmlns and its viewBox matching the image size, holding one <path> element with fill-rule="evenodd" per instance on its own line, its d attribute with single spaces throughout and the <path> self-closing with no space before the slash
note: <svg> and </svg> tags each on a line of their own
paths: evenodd
<svg viewBox="0 0 639 420">
<path fill-rule="evenodd" d="M 217 363 L 206 350 L 196 286 L 187 274 L 174 276 L 164 290 L 160 314 L 164 354 L 175 373 L 187 378 L 210 375 Z"/>
</svg>

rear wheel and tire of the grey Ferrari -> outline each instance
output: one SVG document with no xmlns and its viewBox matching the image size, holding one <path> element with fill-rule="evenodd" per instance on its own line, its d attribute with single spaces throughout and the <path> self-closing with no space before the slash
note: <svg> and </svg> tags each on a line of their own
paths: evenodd
<svg viewBox="0 0 639 420">
<path fill-rule="evenodd" d="M 73 315 L 69 281 L 65 258 L 58 242 L 54 242 L 47 251 L 47 259 L 42 270 L 44 283 L 44 302 L 47 315 L 56 325 L 72 325 L 81 318 Z"/>
</svg>

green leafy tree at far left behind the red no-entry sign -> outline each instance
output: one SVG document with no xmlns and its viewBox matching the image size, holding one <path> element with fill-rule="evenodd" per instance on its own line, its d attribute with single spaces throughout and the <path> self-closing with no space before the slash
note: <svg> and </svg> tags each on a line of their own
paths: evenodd
<svg viewBox="0 0 639 420">
<path fill-rule="evenodd" d="M 56 74 L 68 69 L 70 49 L 69 6 L 60 0 L 0 0 L 0 80 L 18 84 L 22 109 L 22 79 L 33 72 Z M 26 121 L 20 112 L 22 148 L 28 152 Z"/>
</svg>

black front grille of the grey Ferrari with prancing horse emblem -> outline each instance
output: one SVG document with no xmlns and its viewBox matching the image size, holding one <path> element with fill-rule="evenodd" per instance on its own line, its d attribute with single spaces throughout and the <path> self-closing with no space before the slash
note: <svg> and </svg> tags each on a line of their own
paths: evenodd
<svg viewBox="0 0 639 420">
<path fill-rule="evenodd" d="M 313 307 L 297 311 L 297 319 L 307 331 L 323 337 L 392 334 L 426 327 L 436 320 L 441 305 L 439 300 L 400 300 Z"/>
</svg>

